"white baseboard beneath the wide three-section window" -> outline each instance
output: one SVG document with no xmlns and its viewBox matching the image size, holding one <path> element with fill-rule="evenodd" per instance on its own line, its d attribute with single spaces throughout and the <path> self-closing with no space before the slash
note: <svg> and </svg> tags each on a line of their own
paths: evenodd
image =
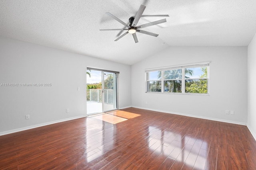
<svg viewBox="0 0 256 170">
<path fill-rule="evenodd" d="M 233 124 L 238 124 L 238 125 L 247 125 L 244 122 L 238 122 L 238 121 L 228 121 L 224 119 L 215 119 L 211 117 L 203 117 L 203 116 L 196 116 L 196 115 L 189 115 L 189 114 L 184 114 L 184 113 L 177 113 L 177 112 L 172 112 L 172 111 L 165 111 L 165 110 L 158 110 L 158 109 L 148 109 L 144 107 L 136 107 L 132 106 L 138 109 L 145 109 L 145 110 L 151 110 L 151 111 L 158 111 L 158 112 L 163 112 L 163 113 L 170 113 L 170 114 L 175 114 L 175 115 L 182 115 L 182 116 L 188 116 L 188 117 L 195 117 L 195 118 L 200 118 L 200 119 L 207 119 L 207 120 L 213 120 L 213 121 L 220 121 L 220 122 L 225 122 L 225 123 L 233 123 Z"/>
</svg>

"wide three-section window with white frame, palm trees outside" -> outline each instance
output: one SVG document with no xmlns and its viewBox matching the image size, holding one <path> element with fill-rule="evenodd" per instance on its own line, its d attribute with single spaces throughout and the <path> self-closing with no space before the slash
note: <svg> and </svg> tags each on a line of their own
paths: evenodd
<svg viewBox="0 0 256 170">
<path fill-rule="evenodd" d="M 146 92 L 209 94 L 209 63 L 148 69 Z"/>
</svg>

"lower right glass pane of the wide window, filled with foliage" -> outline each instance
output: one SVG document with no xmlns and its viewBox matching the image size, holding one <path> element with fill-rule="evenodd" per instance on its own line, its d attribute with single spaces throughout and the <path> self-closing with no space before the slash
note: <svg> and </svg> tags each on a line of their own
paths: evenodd
<svg viewBox="0 0 256 170">
<path fill-rule="evenodd" d="M 208 93 L 207 91 L 208 79 L 186 80 L 186 93 Z"/>
</svg>

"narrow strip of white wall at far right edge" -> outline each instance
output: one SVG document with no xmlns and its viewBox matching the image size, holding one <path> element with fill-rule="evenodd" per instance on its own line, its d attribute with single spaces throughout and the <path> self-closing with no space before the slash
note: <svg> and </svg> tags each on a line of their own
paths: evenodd
<svg viewBox="0 0 256 170">
<path fill-rule="evenodd" d="M 256 139 L 256 34 L 248 46 L 248 128 Z"/>
</svg>

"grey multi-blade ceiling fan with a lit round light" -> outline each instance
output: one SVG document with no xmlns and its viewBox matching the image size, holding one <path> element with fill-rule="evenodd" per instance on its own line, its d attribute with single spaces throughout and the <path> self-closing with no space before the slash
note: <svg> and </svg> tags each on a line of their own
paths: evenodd
<svg viewBox="0 0 256 170">
<path fill-rule="evenodd" d="M 138 21 L 140 20 L 141 17 L 161 17 L 161 16 L 165 16 L 165 17 L 167 16 L 168 17 L 168 15 L 146 15 L 146 16 L 142 16 L 142 13 L 144 12 L 145 8 L 146 8 L 146 6 L 140 5 L 140 8 L 139 8 L 136 16 L 135 17 L 132 16 L 132 17 L 129 18 L 129 22 L 130 22 L 129 25 L 126 24 L 125 22 L 123 22 L 122 20 L 118 19 L 116 16 L 114 16 L 114 15 L 110 14 L 109 12 L 107 12 L 106 13 L 107 15 L 111 16 L 116 21 L 122 23 L 127 28 L 121 28 L 121 29 L 100 29 L 100 31 L 118 31 L 118 30 L 119 31 L 120 30 L 123 31 L 123 30 L 127 30 L 124 34 L 122 34 L 120 37 L 115 39 L 115 41 L 118 41 L 120 38 L 124 37 L 124 35 L 127 35 L 128 33 L 131 33 L 135 43 L 138 43 L 138 38 L 137 38 L 136 32 L 137 33 L 147 34 L 147 35 L 152 35 L 154 37 L 157 37 L 158 34 L 141 30 L 141 28 L 145 28 L 145 27 L 149 27 L 149 26 L 152 26 L 152 25 L 157 25 L 157 24 L 160 24 L 160 23 L 164 23 L 164 22 L 166 22 L 166 19 L 162 19 L 162 20 L 146 23 L 146 24 L 139 25 L 139 26 L 136 26 L 136 25 L 137 25 L 137 23 L 138 23 Z"/>
</svg>

